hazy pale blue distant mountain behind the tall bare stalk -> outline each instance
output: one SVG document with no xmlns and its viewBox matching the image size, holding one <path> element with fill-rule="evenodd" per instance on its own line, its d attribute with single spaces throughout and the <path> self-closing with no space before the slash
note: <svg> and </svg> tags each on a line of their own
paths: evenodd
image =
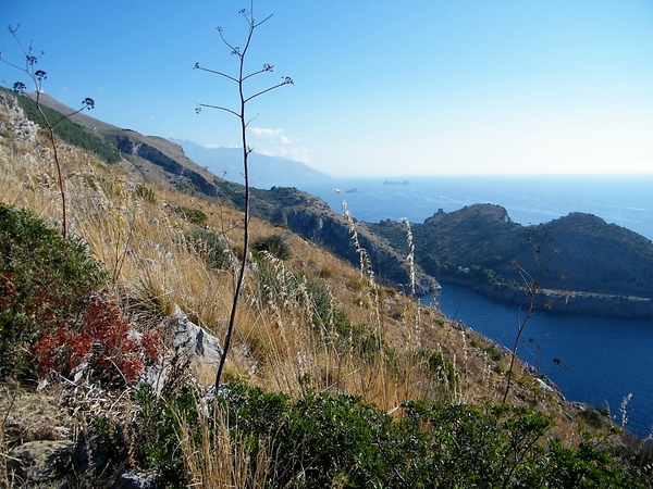
<svg viewBox="0 0 653 489">
<path fill-rule="evenodd" d="M 243 151 L 239 148 L 205 148 L 196 142 L 170 139 L 180 145 L 195 163 L 214 175 L 236 184 L 243 184 Z M 249 155 L 249 185 L 267 189 L 271 187 L 301 187 L 303 184 L 323 180 L 330 176 L 317 172 L 305 163 L 260 153 Z"/>
</svg>

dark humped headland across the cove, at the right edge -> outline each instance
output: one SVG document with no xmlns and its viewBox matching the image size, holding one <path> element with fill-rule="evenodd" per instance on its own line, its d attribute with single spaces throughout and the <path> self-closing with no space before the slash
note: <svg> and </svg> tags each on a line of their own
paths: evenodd
<svg viewBox="0 0 653 489">
<path fill-rule="evenodd" d="M 393 246 L 405 240 L 392 221 L 370 225 Z M 416 262 L 441 281 L 519 303 L 523 280 L 539 268 L 537 305 L 559 312 L 653 318 L 653 242 L 591 214 L 538 226 L 514 223 L 500 205 L 439 211 L 412 225 Z M 540 249 L 539 264 L 534 260 Z"/>
</svg>

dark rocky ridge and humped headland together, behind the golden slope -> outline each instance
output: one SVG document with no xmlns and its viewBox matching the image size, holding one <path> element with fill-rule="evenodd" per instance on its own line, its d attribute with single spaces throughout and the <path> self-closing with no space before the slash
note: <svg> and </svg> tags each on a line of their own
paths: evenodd
<svg viewBox="0 0 653 489">
<path fill-rule="evenodd" d="M 45 101 L 58 106 L 49 98 Z M 73 120 L 114 145 L 131 162 L 131 171 L 147 181 L 217 197 L 243 208 L 242 185 L 198 166 L 178 145 L 119 129 L 86 114 Z M 349 241 L 350 223 L 313 196 L 295 188 L 252 189 L 251 211 L 360 264 L 360 255 Z M 411 271 L 406 260 L 409 250 L 405 225 L 393 221 L 356 223 L 356 230 L 378 279 L 407 286 Z M 414 224 L 412 233 L 418 293 L 436 289 L 431 278 L 435 277 L 519 302 L 523 284 L 515 264 L 533 274 L 538 266 L 532 258 L 533 246 L 538 246 L 543 256 L 539 287 L 557 290 L 554 299 L 558 303 L 565 296 L 564 306 L 558 305 L 560 311 L 653 317 L 653 243 L 596 216 L 574 213 L 525 227 L 512 222 L 498 205 L 477 204 L 436 213 L 423 224 Z M 550 299 L 543 294 L 539 303 Z"/>
</svg>

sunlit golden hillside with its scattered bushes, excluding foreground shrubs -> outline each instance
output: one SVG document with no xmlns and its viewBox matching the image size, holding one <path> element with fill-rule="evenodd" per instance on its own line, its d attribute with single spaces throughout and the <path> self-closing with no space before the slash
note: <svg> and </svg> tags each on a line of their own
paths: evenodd
<svg viewBox="0 0 653 489">
<path fill-rule="evenodd" d="M 1 97 L 0 204 L 28 209 L 61 229 L 62 192 L 50 141 L 11 97 Z M 106 268 L 108 294 L 130 326 L 160 335 L 159 354 L 172 359 L 174 348 L 161 325 L 178 308 L 222 343 L 244 251 L 242 211 L 219 198 L 173 190 L 163 181 L 146 183 L 125 160 L 107 163 L 91 152 L 58 145 L 69 231 Z M 403 417 L 405 401 L 482 406 L 504 397 L 509 352 L 380 286 L 366 269 L 355 269 L 319 243 L 256 218 L 250 230 L 252 246 L 225 381 L 289 399 L 309 392 L 354 394 L 395 419 Z M 188 368 L 182 377 L 198 391 L 213 385 L 214 365 Z M 48 439 L 82 437 L 97 426 L 98 416 L 128 412 L 125 405 L 137 391 L 126 383 L 122 393 L 107 394 L 113 403 L 93 409 L 72 396 L 60 402 L 73 379 L 34 373 L 37 377 L 23 383 L 9 375 L 3 379 L 3 454 L 20 442 L 41 439 L 30 427 L 42 428 L 46 416 L 62 419 L 66 428 L 61 435 L 49 432 Z M 565 402 L 555 386 L 519 362 L 513 378 L 508 403 L 553 415 L 555 427 L 547 437 L 559 437 L 564 447 L 577 446 L 578 423 L 588 426 L 579 414 L 584 411 Z M 39 403 L 45 408 L 28 408 Z M 12 419 L 12 429 L 7 419 Z M 202 472 L 206 466 L 185 469 L 188 480 L 198 474 L 209 477 Z"/>
</svg>

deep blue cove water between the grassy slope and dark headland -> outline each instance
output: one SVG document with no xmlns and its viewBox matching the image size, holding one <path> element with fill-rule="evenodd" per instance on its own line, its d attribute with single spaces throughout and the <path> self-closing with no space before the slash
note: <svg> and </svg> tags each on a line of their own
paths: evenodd
<svg viewBox="0 0 653 489">
<path fill-rule="evenodd" d="M 520 317 L 518 308 L 472 290 L 441 283 L 435 300 L 421 298 L 451 319 L 459 319 L 508 349 Z M 653 426 L 653 322 L 538 311 L 526 326 L 519 358 L 546 375 L 568 401 L 608 408 L 616 423 L 619 406 L 632 394 L 626 428 L 640 437 Z M 558 364 L 559 361 L 559 364 Z"/>
</svg>

